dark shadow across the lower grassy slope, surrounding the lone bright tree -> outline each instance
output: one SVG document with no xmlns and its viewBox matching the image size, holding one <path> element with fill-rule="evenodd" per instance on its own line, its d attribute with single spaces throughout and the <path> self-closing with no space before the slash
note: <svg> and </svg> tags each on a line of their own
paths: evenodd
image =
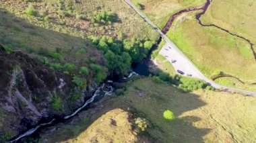
<svg viewBox="0 0 256 143">
<path fill-rule="evenodd" d="M 163 84 L 163 86 L 166 85 Z M 130 88 L 137 87 L 131 85 Z M 149 89 L 150 88 L 152 88 L 152 86 L 150 86 Z M 51 140 L 52 142 L 65 142 L 66 140 L 75 139 L 79 134 L 82 134 L 90 124 L 101 117 L 101 115 L 104 115 L 113 109 L 121 108 L 133 114 L 131 122 L 133 122 L 133 118 L 135 117 L 145 117 L 148 120 L 149 126 L 147 133 L 142 134 L 142 136 L 148 138 L 150 142 L 204 142 L 203 136 L 208 134 L 211 129 L 197 128 L 193 126 L 193 123 L 201 121 L 201 118 L 197 115 L 190 114 L 183 115 L 182 117 L 179 116 L 187 111 L 203 107 L 206 105 L 205 102 L 199 99 L 199 95 L 193 93 L 179 93 L 179 89 L 175 87 L 170 88 L 172 89 L 172 93 L 164 93 L 164 95 L 161 96 L 151 92 L 149 89 L 135 89 L 137 96 L 133 98 L 128 97 L 127 99 L 122 97 L 122 99 L 120 99 L 120 97 L 113 97 L 109 99 L 109 97 L 107 97 L 102 101 L 91 104 L 88 111 L 79 113 L 78 118 L 75 117 L 65 123 L 43 130 L 42 134 L 44 134 L 44 136 L 40 136 L 40 138 L 54 138 L 54 140 Z M 134 89 L 131 90 L 133 91 Z M 142 97 L 140 94 L 141 92 L 143 92 Z M 164 101 L 167 96 L 170 97 L 170 99 L 168 99 L 168 104 Z M 152 104 L 150 101 L 142 102 L 141 98 L 152 100 Z M 141 101 L 141 104 L 145 104 L 150 111 L 146 109 L 147 107 L 138 109 L 139 105 L 137 105 L 136 101 Z M 165 106 L 162 107 L 163 105 L 161 105 L 161 103 L 164 103 Z M 164 120 L 162 118 L 162 112 L 165 109 L 171 109 L 177 116 L 177 119 L 172 122 Z M 154 119 L 154 117 L 159 116 L 160 118 L 158 121 Z M 75 126 L 79 125 L 79 122 L 85 119 L 85 117 L 90 118 L 90 123 L 75 132 L 72 131 Z M 166 126 L 162 126 L 162 124 Z M 166 132 L 167 130 L 168 132 Z M 55 136 L 58 136 L 58 138 L 55 138 Z"/>
</svg>

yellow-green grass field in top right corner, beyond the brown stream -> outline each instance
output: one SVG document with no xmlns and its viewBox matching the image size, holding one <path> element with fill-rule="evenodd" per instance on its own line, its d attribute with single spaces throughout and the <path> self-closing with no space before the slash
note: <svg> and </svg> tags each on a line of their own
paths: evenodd
<svg viewBox="0 0 256 143">
<path fill-rule="evenodd" d="M 201 17 L 203 23 L 214 23 L 234 34 L 241 35 L 256 43 L 256 2 L 246 1 L 212 1 L 205 15 Z M 220 11 L 224 9 L 224 11 Z"/>
</svg>

